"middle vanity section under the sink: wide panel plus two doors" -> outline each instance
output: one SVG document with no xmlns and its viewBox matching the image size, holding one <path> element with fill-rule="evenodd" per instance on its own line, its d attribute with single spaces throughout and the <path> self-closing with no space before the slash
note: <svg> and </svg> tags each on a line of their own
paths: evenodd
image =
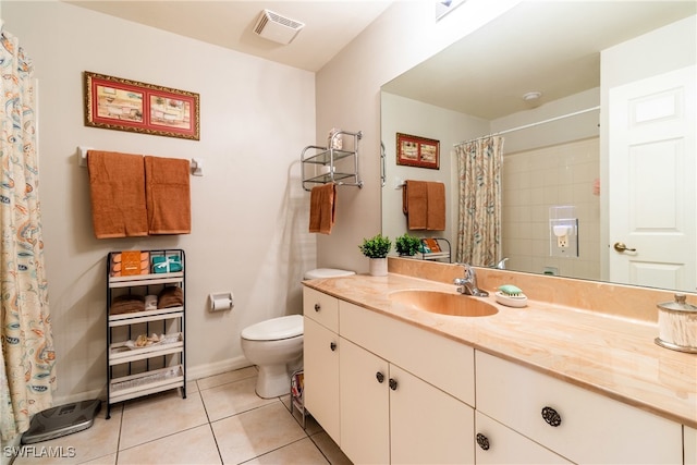
<svg viewBox="0 0 697 465">
<path fill-rule="evenodd" d="M 474 403 L 472 348 L 343 301 L 339 321 L 343 452 L 355 463 L 474 463 L 463 402 Z"/>
</svg>

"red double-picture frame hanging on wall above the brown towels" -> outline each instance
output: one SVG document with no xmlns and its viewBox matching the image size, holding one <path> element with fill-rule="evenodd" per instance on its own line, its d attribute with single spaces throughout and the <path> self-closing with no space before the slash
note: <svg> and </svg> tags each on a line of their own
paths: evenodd
<svg viewBox="0 0 697 465">
<path fill-rule="evenodd" d="M 199 96 L 85 71 L 85 125 L 198 140 Z"/>
</svg>

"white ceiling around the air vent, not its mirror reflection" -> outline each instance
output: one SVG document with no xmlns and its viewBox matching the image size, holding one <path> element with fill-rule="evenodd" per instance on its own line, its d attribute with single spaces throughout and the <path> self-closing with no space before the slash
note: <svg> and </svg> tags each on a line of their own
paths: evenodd
<svg viewBox="0 0 697 465">
<path fill-rule="evenodd" d="M 313 72 L 321 69 L 392 3 L 374 0 L 65 1 Z M 290 45 L 261 38 L 253 28 L 264 9 L 304 23 L 305 27 Z"/>
</svg>

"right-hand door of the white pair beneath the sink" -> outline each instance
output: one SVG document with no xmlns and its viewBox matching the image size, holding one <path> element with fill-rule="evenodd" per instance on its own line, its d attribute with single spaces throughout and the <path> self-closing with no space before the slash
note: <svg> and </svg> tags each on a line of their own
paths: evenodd
<svg viewBox="0 0 697 465">
<path fill-rule="evenodd" d="M 473 464 L 474 409 L 390 365 L 393 464 Z"/>
</svg>

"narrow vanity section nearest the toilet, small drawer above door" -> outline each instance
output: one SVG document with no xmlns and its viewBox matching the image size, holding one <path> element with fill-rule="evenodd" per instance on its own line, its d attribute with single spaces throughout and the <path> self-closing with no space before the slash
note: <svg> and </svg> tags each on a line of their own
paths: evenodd
<svg viewBox="0 0 697 465">
<path fill-rule="evenodd" d="M 304 287 L 303 314 L 305 408 L 339 444 L 339 301 Z"/>
</svg>

